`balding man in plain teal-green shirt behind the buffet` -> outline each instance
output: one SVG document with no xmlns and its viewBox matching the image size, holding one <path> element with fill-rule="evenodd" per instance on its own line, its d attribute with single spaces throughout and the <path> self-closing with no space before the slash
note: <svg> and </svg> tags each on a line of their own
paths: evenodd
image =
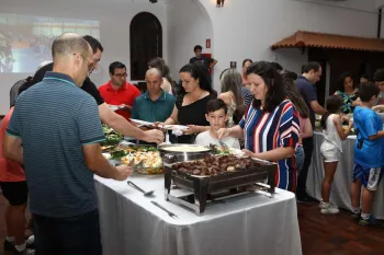
<svg viewBox="0 0 384 255">
<path fill-rule="evenodd" d="M 147 92 L 136 97 L 132 109 L 132 118 L 149 123 L 163 123 L 171 116 L 174 96 L 161 90 L 162 76 L 156 68 L 150 68 L 145 80 Z"/>
</svg>

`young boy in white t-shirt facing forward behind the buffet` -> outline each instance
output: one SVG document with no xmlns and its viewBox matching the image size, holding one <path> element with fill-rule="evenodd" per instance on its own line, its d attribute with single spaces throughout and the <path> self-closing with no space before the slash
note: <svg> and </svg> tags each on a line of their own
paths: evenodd
<svg viewBox="0 0 384 255">
<path fill-rule="evenodd" d="M 228 120 L 227 105 L 223 100 L 210 100 L 206 104 L 205 118 L 210 123 L 211 129 L 201 132 L 194 143 L 200 146 L 216 144 L 221 148 L 217 140 L 217 131 L 221 128 L 226 127 L 226 121 Z M 228 148 L 240 149 L 239 140 L 233 137 L 226 137 L 222 139 Z"/>
</svg>

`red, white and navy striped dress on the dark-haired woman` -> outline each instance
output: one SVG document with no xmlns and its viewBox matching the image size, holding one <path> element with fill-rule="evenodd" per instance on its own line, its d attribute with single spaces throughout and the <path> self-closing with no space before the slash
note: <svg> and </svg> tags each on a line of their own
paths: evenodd
<svg viewBox="0 0 384 255">
<path fill-rule="evenodd" d="M 250 106 L 239 126 L 245 130 L 246 149 L 261 153 L 280 147 L 296 148 L 298 142 L 298 114 L 289 100 L 283 101 L 272 113 Z M 278 162 L 275 185 L 279 188 L 295 192 L 295 159 Z"/>
</svg>

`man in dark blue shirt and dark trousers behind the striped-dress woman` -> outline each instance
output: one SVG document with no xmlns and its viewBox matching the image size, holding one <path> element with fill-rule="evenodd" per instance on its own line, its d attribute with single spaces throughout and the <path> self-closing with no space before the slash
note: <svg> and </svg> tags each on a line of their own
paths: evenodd
<svg viewBox="0 0 384 255">
<path fill-rule="evenodd" d="M 321 66 L 318 62 L 308 62 L 304 67 L 303 74 L 296 80 L 296 86 L 300 94 L 303 96 L 305 103 L 307 104 L 310 112 L 310 123 L 312 127 L 315 129 L 315 113 L 323 115 L 327 111 L 321 107 L 317 102 L 317 94 L 315 89 L 315 83 L 320 80 L 321 77 Z M 305 153 L 305 160 L 303 169 L 300 172 L 297 179 L 296 196 L 298 201 L 310 201 L 313 200 L 306 193 L 306 182 L 308 175 L 308 167 L 312 161 L 312 152 L 314 150 L 314 138 L 303 138 L 303 148 Z"/>
</svg>

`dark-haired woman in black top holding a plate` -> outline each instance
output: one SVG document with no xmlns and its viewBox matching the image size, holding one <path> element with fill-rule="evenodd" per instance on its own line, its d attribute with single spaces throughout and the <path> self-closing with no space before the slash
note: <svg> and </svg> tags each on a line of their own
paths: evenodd
<svg viewBox="0 0 384 255">
<path fill-rule="evenodd" d="M 208 130 L 210 123 L 205 118 L 206 103 L 216 98 L 212 89 L 212 78 L 204 66 L 189 63 L 179 71 L 181 88 L 176 98 L 172 115 L 165 124 L 187 125 L 190 128 L 178 137 L 178 143 L 193 143 L 196 134 Z"/>
</svg>

